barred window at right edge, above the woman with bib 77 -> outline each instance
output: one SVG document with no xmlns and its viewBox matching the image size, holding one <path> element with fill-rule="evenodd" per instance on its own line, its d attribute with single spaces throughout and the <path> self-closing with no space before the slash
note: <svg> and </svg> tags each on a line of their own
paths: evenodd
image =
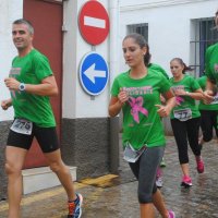
<svg viewBox="0 0 218 218">
<path fill-rule="evenodd" d="M 205 52 L 208 46 L 218 41 L 218 32 L 214 28 L 214 17 L 191 22 L 191 66 L 194 75 L 204 74 Z"/>
</svg>

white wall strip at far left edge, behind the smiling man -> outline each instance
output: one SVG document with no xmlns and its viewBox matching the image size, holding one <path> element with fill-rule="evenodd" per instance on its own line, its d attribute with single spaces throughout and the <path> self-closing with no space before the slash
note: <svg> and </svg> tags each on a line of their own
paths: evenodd
<svg viewBox="0 0 218 218">
<path fill-rule="evenodd" d="M 23 0 L 0 1 L 0 101 L 10 98 L 9 89 L 3 80 L 9 76 L 11 61 L 16 56 L 12 43 L 11 27 L 13 21 L 23 16 Z M 13 109 L 3 111 L 0 109 L 0 121 L 12 120 Z"/>
</svg>

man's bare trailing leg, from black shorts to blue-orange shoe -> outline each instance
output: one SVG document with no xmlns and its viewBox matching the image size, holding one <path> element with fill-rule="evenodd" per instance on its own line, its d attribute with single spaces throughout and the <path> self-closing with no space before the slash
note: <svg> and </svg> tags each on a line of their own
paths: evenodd
<svg viewBox="0 0 218 218">
<path fill-rule="evenodd" d="M 76 198 L 70 169 L 63 164 L 61 159 L 60 149 L 51 153 L 45 153 L 50 169 L 58 175 L 61 184 L 63 185 L 69 201 Z"/>
</svg>

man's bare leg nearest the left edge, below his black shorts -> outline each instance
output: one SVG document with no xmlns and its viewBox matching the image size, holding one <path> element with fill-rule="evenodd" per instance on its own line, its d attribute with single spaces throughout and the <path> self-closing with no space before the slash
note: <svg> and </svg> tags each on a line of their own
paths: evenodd
<svg viewBox="0 0 218 218">
<path fill-rule="evenodd" d="M 20 147 L 7 146 L 5 148 L 9 218 L 20 217 L 20 204 L 22 198 L 22 168 L 26 153 L 26 149 Z"/>
</svg>

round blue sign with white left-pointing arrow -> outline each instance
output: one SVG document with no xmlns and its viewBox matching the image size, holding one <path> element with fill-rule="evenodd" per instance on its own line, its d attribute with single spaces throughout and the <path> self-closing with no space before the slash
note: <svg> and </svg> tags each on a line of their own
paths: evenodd
<svg viewBox="0 0 218 218">
<path fill-rule="evenodd" d="M 80 80 L 84 90 L 89 95 L 99 95 L 105 89 L 108 77 L 105 59 L 96 52 L 85 55 L 80 65 Z"/>
</svg>

